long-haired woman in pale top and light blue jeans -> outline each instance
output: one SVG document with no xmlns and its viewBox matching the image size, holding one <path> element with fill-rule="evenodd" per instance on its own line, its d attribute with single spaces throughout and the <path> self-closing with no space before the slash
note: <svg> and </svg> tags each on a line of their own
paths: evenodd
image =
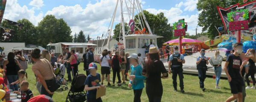
<svg viewBox="0 0 256 102">
<path fill-rule="evenodd" d="M 214 73 L 216 76 L 216 86 L 215 88 L 221 88 L 219 87 L 219 81 L 221 79 L 221 63 L 222 63 L 223 57 L 220 55 L 220 51 L 216 50 L 214 56 L 209 59 L 209 63 L 214 67 Z"/>
</svg>

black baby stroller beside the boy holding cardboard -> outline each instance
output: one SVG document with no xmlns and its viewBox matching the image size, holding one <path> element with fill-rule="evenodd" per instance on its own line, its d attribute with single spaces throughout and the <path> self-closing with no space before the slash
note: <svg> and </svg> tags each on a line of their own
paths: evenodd
<svg viewBox="0 0 256 102">
<path fill-rule="evenodd" d="M 86 93 L 84 91 L 84 82 L 86 76 L 84 74 L 76 74 L 71 83 L 70 91 L 67 94 L 66 102 L 84 102 L 86 101 Z M 69 99 L 69 101 L 68 101 Z"/>
</svg>

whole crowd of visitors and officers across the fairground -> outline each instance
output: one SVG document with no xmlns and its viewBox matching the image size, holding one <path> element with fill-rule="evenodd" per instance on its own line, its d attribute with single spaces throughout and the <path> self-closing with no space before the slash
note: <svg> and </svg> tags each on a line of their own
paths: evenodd
<svg viewBox="0 0 256 102">
<path fill-rule="evenodd" d="M 166 52 L 171 52 L 170 48 L 166 47 Z M 129 54 L 129 52 L 115 51 L 112 55 L 111 51 L 104 50 L 102 55 L 99 57 L 99 65 L 101 66 L 101 74 L 96 73 L 98 67 L 94 63 L 94 48 L 87 48 L 86 53 L 82 56 L 84 62 L 84 71 L 86 71 L 87 79 L 84 80 L 84 90 L 87 91 L 87 102 L 102 102 L 99 97 L 96 99 L 96 89 L 105 87 L 104 80 L 106 78 L 108 86 L 111 86 L 110 74 L 111 68 L 113 73 L 112 86 L 117 84 L 118 86 L 126 85 L 134 90 L 134 102 L 141 102 L 140 96 L 143 88 L 145 87 L 146 94 L 149 102 L 161 102 L 163 94 L 163 85 L 161 78 L 168 78 L 168 73 L 172 73 L 173 88 L 177 91 L 177 76 L 179 77 L 180 92 L 185 93 L 183 83 L 183 64 L 185 59 L 183 54 L 179 53 L 179 48 L 176 46 L 173 50 L 173 54 L 168 56 L 168 68 L 166 71 L 163 62 L 160 61 L 160 52 L 156 47 L 152 46 L 146 52 L 146 57 L 142 58 L 141 54 Z M 52 97 L 55 89 L 52 89 L 55 84 L 55 63 L 64 64 L 67 70 L 67 81 L 72 81 L 72 78 L 76 76 L 79 65 L 79 55 L 75 50 L 69 50 L 65 48 L 66 55 L 59 54 L 55 57 L 54 53 L 49 51 L 41 51 L 35 49 L 27 57 L 22 56 L 22 51 L 10 52 L 7 55 L 7 59 L 0 56 L 1 68 L 5 69 L 5 83 L 7 80 L 10 83 L 10 89 L 15 93 L 21 94 L 26 93 L 29 96 L 25 96 L 23 99 L 26 102 L 33 97 L 32 91 L 29 90 L 29 83 L 27 80 L 26 68 L 27 65 L 23 64 L 26 60 L 31 59 L 33 61 L 32 71 L 36 77 L 36 87 L 40 94 Z M 64 58 L 65 57 L 65 58 Z M 205 91 L 204 80 L 206 79 L 207 65 L 213 66 L 216 85 L 215 88 L 221 88 L 219 86 L 221 71 L 222 71 L 222 60 L 223 57 L 217 50 L 213 57 L 206 57 L 205 50 L 201 49 L 200 56 L 196 59 L 196 65 L 198 70 L 199 84 L 202 91 Z M 249 62 L 247 64 L 247 62 Z M 256 73 L 256 51 L 255 49 L 248 49 L 243 52 L 242 44 L 236 43 L 234 50 L 227 56 L 227 60 L 224 64 L 224 71 L 227 74 L 228 82 L 230 84 L 231 93 L 225 102 L 244 102 L 246 92 L 245 89 L 255 89 L 255 78 Z M 128 74 L 130 70 L 130 75 Z M 121 74 L 121 75 L 120 75 Z M 250 87 L 250 80 L 253 80 L 253 86 Z M 116 82 L 116 77 L 118 81 Z M 121 79 L 122 77 L 122 79 Z M 146 83 L 144 85 L 144 80 Z M 115 83 L 116 82 L 116 83 Z M 247 86 L 245 85 L 245 82 Z M 26 99 L 26 100 L 25 100 Z"/>
</svg>

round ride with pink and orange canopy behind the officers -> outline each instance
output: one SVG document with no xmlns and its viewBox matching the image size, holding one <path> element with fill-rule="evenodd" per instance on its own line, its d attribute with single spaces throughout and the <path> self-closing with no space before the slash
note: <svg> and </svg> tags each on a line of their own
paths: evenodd
<svg viewBox="0 0 256 102">
<path fill-rule="evenodd" d="M 204 44 L 204 42 L 199 40 L 194 40 L 190 38 L 182 38 L 182 54 L 192 54 L 193 51 L 200 51 L 201 48 L 209 49 L 209 46 Z M 179 39 L 170 40 L 168 42 L 163 43 L 163 45 L 166 45 L 169 43 L 171 46 L 171 50 L 173 51 L 174 46 L 179 45 Z"/>
</svg>

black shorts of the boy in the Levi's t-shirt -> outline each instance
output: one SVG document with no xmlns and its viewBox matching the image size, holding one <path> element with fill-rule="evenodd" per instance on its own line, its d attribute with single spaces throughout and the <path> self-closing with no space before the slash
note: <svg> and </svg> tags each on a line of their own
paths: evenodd
<svg viewBox="0 0 256 102">
<path fill-rule="evenodd" d="M 243 80 L 241 79 L 231 79 L 229 82 L 231 88 L 231 94 L 238 94 L 242 92 L 242 88 L 244 85 Z"/>
</svg>

